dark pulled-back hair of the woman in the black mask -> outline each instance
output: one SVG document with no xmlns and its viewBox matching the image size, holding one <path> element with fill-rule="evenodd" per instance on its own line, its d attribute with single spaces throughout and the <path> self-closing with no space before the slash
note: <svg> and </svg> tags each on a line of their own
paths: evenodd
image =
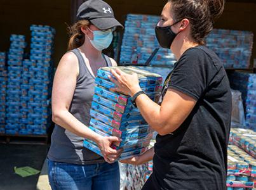
<svg viewBox="0 0 256 190">
<path fill-rule="evenodd" d="M 195 42 L 205 44 L 205 37 L 213 22 L 224 10 L 225 0 L 168 0 L 172 3 L 175 21 L 187 18 L 191 23 L 191 36 Z"/>
</svg>

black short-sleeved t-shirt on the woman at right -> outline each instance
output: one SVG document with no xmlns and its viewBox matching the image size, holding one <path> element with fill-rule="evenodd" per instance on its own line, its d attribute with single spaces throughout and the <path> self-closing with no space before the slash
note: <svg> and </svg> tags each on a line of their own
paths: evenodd
<svg viewBox="0 0 256 190">
<path fill-rule="evenodd" d="M 173 134 L 156 137 L 151 187 L 226 189 L 232 97 L 224 66 L 205 46 L 187 49 L 168 75 L 162 97 L 167 89 L 197 103 Z"/>
</svg>

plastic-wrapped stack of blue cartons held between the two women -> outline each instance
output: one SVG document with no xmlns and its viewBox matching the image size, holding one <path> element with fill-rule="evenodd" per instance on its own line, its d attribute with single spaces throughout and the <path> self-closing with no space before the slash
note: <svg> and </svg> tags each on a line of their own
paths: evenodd
<svg viewBox="0 0 256 190">
<path fill-rule="evenodd" d="M 112 144 L 114 149 L 123 149 L 120 160 L 140 155 L 145 151 L 152 138 L 151 129 L 131 102 L 130 96 L 113 92 L 116 87 L 111 80 L 111 69 L 100 68 L 95 79 L 95 94 L 91 103 L 90 129 L 102 136 L 116 136 L 122 139 L 119 144 Z M 161 92 L 161 75 L 140 70 L 132 66 L 119 66 L 125 73 L 137 73 L 139 84 L 147 96 L 155 101 Z M 84 147 L 101 155 L 97 144 L 84 140 Z"/>
</svg>

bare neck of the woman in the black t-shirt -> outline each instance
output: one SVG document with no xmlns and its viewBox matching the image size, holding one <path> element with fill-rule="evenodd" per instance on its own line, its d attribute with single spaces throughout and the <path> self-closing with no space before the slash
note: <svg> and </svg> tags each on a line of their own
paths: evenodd
<svg viewBox="0 0 256 190">
<path fill-rule="evenodd" d="M 191 39 L 189 39 L 189 37 L 180 37 L 180 38 L 176 38 L 175 41 L 173 41 L 171 50 L 175 55 L 175 57 L 177 58 L 177 60 L 179 60 L 182 54 L 184 54 L 184 52 L 187 49 L 191 47 L 196 47 L 196 46 L 199 46 L 199 44 L 196 42 L 193 42 Z"/>
</svg>

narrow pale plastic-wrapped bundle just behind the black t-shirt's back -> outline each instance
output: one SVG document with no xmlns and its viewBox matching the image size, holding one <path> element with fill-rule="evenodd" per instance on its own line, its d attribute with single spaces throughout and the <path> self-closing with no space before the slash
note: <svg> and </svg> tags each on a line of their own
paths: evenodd
<svg viewBox="0 0 256 190">
<path fill-rule="evenodd" d="M 242 94 L 239 91 L 232 92 L 232 122 L 245 126 L 245 111 L 243 108 Z"/>
</svg>

